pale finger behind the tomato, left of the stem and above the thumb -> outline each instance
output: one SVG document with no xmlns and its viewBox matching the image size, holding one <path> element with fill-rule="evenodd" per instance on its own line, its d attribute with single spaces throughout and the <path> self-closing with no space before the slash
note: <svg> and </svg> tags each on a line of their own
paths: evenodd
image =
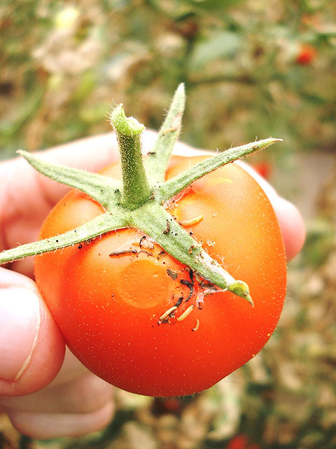
<svg viewBox="0 0 336 449">
<path fill-rule="evenodd" d="M 53 163 L 97 171 L 118 157 L 115 135 L 99 135 L 39 152 Z M 38 173 L 22 158 L 0 163 L 0 249 L 36 241 L 41 224 L 69 187 Z M 26 276 L 33 275 L 32 257 L 18 260 L 11 268 Z"/>
</svg>

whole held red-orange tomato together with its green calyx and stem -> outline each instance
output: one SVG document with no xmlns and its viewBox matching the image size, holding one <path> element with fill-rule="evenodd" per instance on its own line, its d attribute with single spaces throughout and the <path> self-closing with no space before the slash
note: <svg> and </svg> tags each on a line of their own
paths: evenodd
<svg viewBox="0 0 336 449">
<path fill-rule="evenodd" d="M 177 131 L 171 125 L 160 133 L 164 147 Z M 127 154 L 139 149 L 134 127 L 116 128 Z M 241 148 L 228 154 L 237 159 Z M 213 170 L 225 154 L 174 156 L 159 182 L 151 166 L 158 149 L 145 161 L 151 185 L 138 183 L 140 159 L 125 163 L 122 154 L 124 179 L 116 164 L 85 175 L 84 193 L 59 201 L 31 245 L 48 246 L 35 250 L 36 283 L 73 354 L 116 387 L 179 396 L 211 387 L 265 345 L 283 307 L 286 260 L 274 210 L 243 168 Z M 195 170 L 202 175 L 186 181 Z"/>
</svg>

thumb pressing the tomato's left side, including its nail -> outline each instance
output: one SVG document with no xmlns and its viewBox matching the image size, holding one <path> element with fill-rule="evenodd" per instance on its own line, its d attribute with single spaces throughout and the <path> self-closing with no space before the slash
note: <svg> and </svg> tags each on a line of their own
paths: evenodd
<svg viewBox="0 0 336 449">
<path fill-rule="evenodd" d="M 65 344 L 36 284 L 0 269 L 0 395 L 45 387 L 62 366 Z"/>
</svg>

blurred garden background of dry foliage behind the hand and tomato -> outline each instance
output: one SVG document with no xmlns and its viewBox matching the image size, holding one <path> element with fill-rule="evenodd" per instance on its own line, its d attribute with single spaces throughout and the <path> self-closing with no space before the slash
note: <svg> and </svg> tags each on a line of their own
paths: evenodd
<svg viewBox="0 0 336 449">
<path fill-rule="evenodd" d="M 110 131 L 158 128 L 176 86 L 181 139 L 207 149 L 283 138 L 249 161 L 302 210 L 307 243 L 268 346 L 200 396 L 118 392 L 101 434 L 48 443 L 0 417 L 2 448 L 336 447 L 336 4 L 329 0 L 2 0 L 0 159 Z"/>
</svg>

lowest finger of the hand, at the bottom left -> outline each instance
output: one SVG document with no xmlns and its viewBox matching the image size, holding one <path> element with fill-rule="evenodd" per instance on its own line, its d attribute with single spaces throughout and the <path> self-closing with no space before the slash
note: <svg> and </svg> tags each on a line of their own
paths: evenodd
<svg viewBox="0 0 336 449">
<path fill-rule="evenodd" d="M 83 436 L 104 429 L 113 417 L 112 401 L 99 410 L 84 414 L 54 414 L 11 411 L 10 421 L 21 434 L 31 438 L 58 438 L 60 436 Z"/>
</svg>

